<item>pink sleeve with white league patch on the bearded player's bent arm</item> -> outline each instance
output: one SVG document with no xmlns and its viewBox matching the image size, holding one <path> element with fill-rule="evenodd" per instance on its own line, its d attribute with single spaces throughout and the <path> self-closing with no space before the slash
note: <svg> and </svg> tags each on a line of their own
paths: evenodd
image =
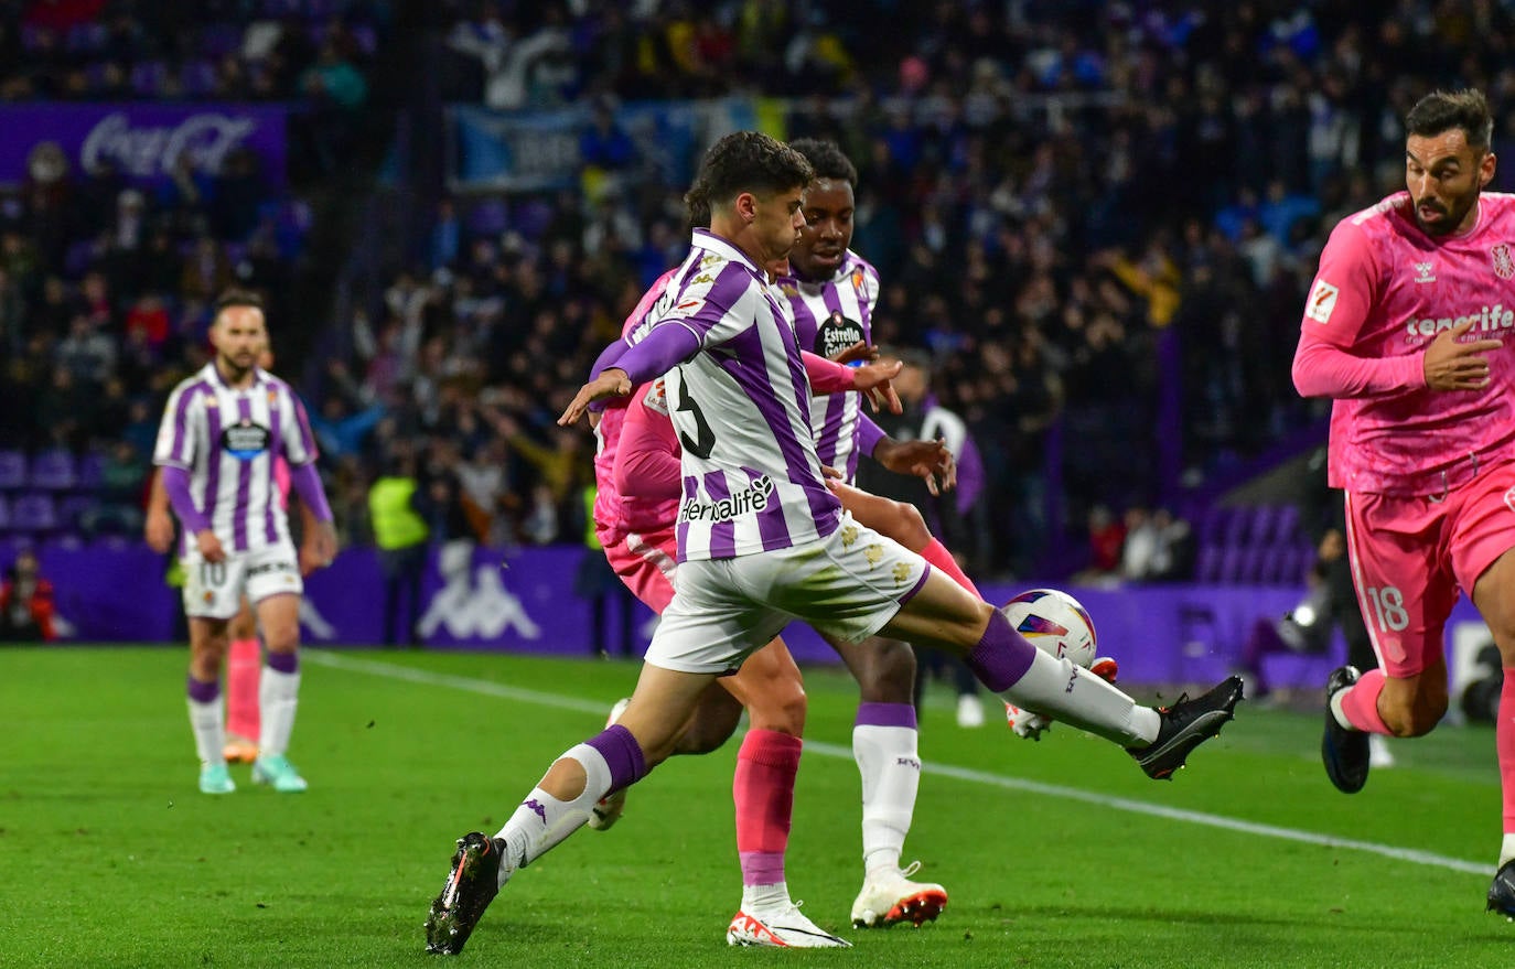
<svg viewBox="0 0 1515 969">
<path fill-rule="evenodd" d="M 1353 350 L 1379 300 L 1379 265 L 1367 233 L 1345 220 L 1321 251 L 1294 351 L 1301 397 L 1376 397 L 1426 386 L 1420 354 L 1359 356 Z"/>
</svg>

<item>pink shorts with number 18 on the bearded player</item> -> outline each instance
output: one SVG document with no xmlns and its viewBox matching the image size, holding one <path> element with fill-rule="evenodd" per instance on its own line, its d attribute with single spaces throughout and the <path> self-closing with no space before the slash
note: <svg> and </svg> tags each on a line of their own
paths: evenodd
<svg viewBox="0 0 1515 969">
<path fill-rule="evenodd" d="M 1460 587 L 1515 548 L 1515 462 L 1439 500 L 1347 494 L 1347 553 L 1379 665 L 1413 677 L 1441 662 Z"/>
</svg>

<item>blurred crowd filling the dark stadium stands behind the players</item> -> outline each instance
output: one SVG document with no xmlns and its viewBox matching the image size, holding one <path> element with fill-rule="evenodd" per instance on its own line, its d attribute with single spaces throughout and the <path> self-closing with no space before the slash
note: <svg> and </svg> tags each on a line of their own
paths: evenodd
<svg viewBox="0 0 1515 969">
<path fill-rule="evenodd" d="M 973 571 L 1188 577 L 1224 489 L 1324 436 L 1288 374 L 1330 227 L 1401 186 L 1400 118 L 1436 86 L 1482 86 L 1506 147 L 1512 39 L 1506 0 L 0 0 L 0 117 L 286 112 L 283 171 L 24 145 L 0 530 L 136 534 L 161 407 L 236 283 L 344 542 L 373 541 L 382 474 L 420 480 L 433 541 L 583 542 L 594 439 L 554 418 L 682 259 L 698 150 L 750 118 L 859 170 L 876 339 L 927 356 L 983 460 L 948 525 Z M 695 150 L 645 101 L 694 112 Z M 551 179 L 497 185 L 464 171 L 461 111 L 576 121 L 541 141 Z"/>
</svg>

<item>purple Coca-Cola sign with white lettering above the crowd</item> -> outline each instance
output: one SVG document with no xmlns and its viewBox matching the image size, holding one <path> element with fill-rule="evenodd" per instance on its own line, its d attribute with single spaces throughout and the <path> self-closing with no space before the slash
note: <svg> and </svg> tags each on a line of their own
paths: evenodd
<svg viewBox="0 0 1515 969">
<path fill-rule="evenodd" d="M 0 183 L 26 179 L 26 156 L 56 142 L 79 177 L 109 159 L 130 179 L 152 182 L 188 156 L 217 173 L 235 148 L 259 156 L 264 177 L 285 179 L 285 109 L 250 104 L 17 104 L 0 107 Z"/>
</svg>

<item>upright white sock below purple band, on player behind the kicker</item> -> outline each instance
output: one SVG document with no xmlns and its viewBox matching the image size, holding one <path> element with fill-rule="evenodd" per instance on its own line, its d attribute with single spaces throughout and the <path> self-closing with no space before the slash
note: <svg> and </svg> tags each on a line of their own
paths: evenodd
<svg viewBox="0 0 1515 969">
<path fill-rule="evenodd" d="M 921 784 L 918 731 L 911 727 L 853 727 L 853 760 L 862 774 L 862 866 L 898 869 Z"/>
</svg>

